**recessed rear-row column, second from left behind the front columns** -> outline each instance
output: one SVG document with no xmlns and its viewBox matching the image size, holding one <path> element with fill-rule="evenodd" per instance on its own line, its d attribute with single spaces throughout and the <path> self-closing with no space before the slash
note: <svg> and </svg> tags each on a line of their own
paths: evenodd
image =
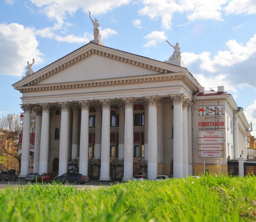
<svg viewBox="0 0 256 222">
<path fill-rule="evenodd" d="M 95 126 L 95 160 L 100 159 L 101 155 L 101 125 L 102 125 L 102 109 L 101 105 L 97 105 L 94 107 L 96 110 L 96 126 Z"/>
</svg>

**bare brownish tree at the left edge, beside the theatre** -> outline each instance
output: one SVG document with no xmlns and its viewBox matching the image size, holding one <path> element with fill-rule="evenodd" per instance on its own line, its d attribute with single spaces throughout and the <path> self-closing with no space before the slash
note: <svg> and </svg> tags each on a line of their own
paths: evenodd
<svg viewBox="0 0 256 222">
<path fill-rule="evenodd" d="M 19 138 L 22 133 L 20 118 L 16 114 L 8 114 L 0 119 L 0 131 L 4 135 L 0 138 L 0 154 L 8 157 L 8 167 L 17 169 L 21 166 L 21 157 L 18 155 Z"/>
</svg>

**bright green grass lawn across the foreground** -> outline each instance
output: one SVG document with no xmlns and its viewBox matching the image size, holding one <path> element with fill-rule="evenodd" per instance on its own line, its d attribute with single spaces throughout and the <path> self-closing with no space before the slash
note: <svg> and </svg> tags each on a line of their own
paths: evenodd
<svg viewBox="0 0 256 222">
<path fill-rule="evenodd" d="M 130 181 L 83 191 L 7 187 L 0 191 L 0 221 L 256 221 L 256 177 Z"/>
</svg>

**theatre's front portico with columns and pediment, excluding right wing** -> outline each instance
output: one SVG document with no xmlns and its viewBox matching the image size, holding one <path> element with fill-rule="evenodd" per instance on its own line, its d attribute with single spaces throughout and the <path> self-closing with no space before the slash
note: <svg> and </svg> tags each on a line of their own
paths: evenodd
<svg viewBox="0 0 256 222">
<path fill-rule="evenodd" d="M 59 175 L 76 163 L 84 175 L 98 169 L 100 180 L 120 177 L 120 169 L 124 181 L 139 172 L 150 179 L 171 174 L 171 159 L 174 177 L 191 173 L 188 103 L 200 84 L 184 67 L 89 43 L 13 86 L 23 94 L 23 138 L 31 112 L 42 112 L 35 131 L 39 173 L 55 157 Z M 22 175 L 29 145 L 22 143 Z"/>
</svg>

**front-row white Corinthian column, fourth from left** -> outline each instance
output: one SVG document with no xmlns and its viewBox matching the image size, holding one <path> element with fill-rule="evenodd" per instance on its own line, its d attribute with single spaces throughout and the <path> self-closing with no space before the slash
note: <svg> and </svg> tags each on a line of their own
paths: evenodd
<svg viewBox="0 0 256 222">
<path fill-rule="evenodd" d="M 79 101 L 81 104 L 81 131 L 79 173 L 88 175 L 88 142 L 89 142 L 89 107 L 90 101 Z"/>
</svg>

